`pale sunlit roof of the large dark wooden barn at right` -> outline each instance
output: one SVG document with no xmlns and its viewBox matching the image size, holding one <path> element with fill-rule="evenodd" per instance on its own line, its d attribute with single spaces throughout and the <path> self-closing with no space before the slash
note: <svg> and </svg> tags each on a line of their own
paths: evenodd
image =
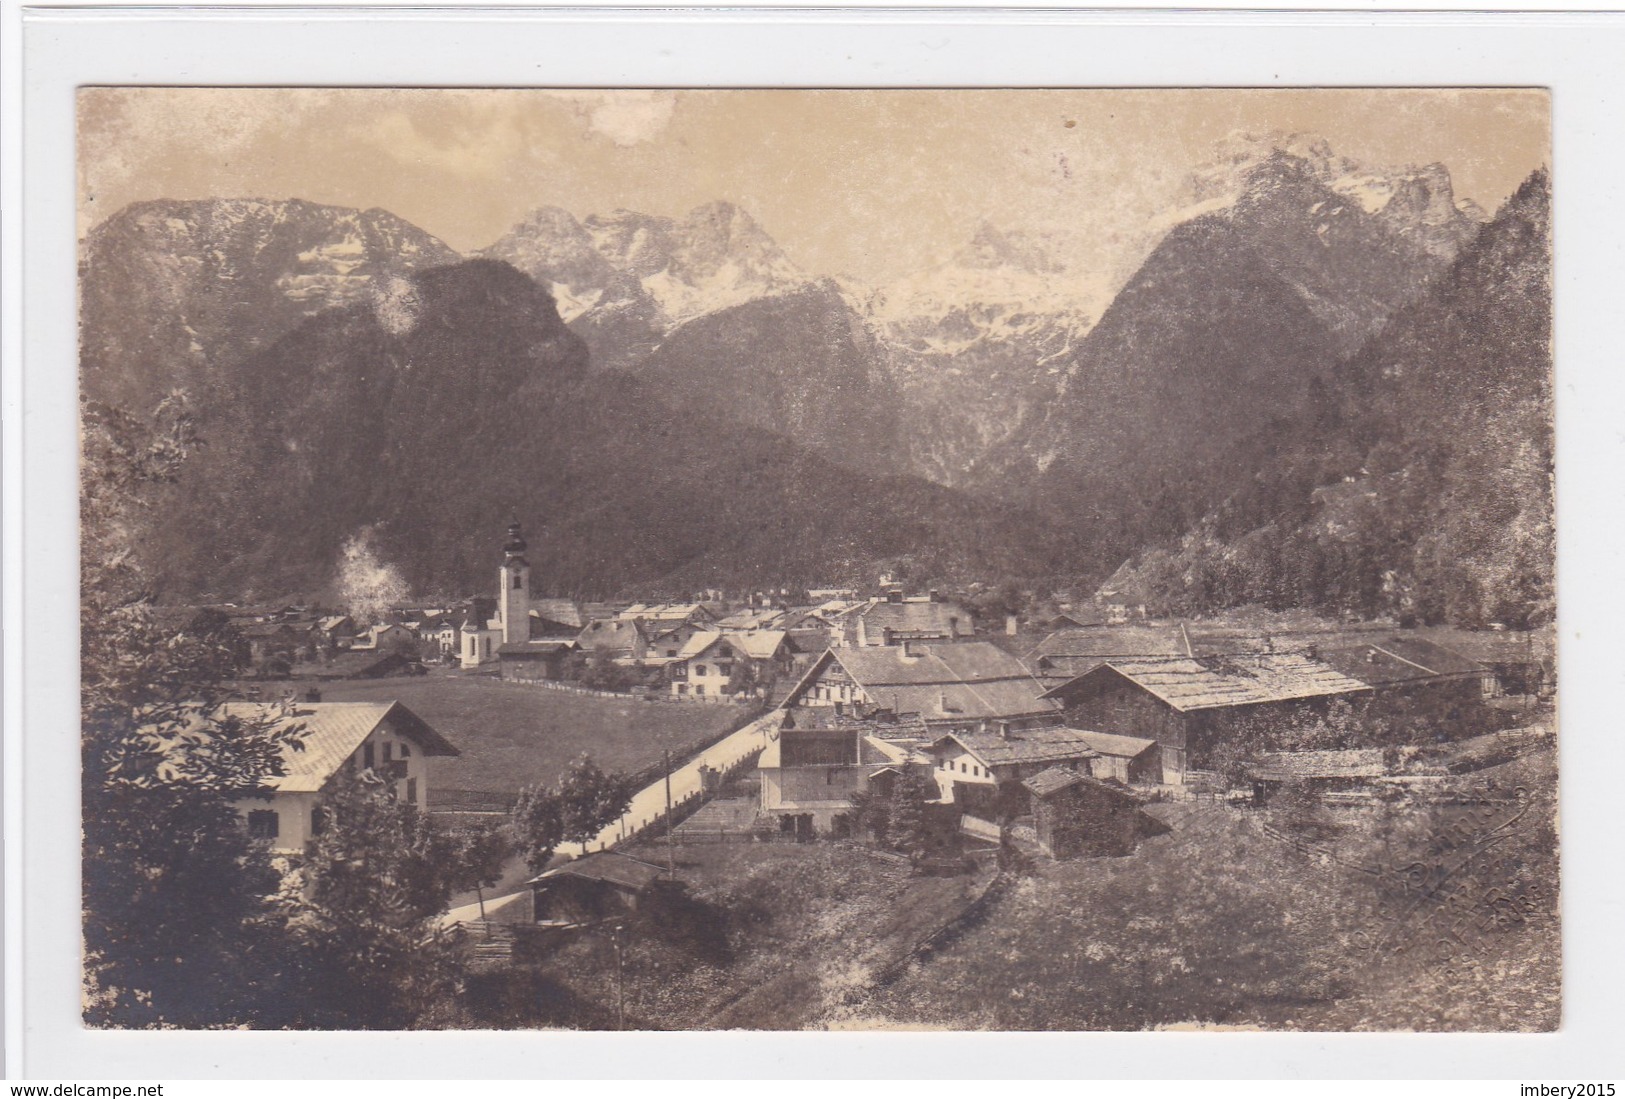
<svg viewBox="0 0 1625 1099">
<path fill-rule="evenodd" d="M 1103 660 L 1097 668 L 1045 691 L 1043 697 L 1066 697 L 1076 686 L 1100 675 L 1121 676 L 1181 714 L 1372 689 L 1320 660 L 1292 652 L 1259 652 Z"/>
</svg>

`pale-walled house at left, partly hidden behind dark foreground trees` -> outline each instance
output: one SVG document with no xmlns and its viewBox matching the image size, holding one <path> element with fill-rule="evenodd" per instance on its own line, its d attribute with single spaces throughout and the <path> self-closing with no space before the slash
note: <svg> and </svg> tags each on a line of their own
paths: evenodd
<svg viewBox="0 0 1625 1099">
<path fill-rule="evenodd" d="M 270 800 L 237 801 L 249 834 L 281 854 L 304 852 L 306 842 L 320 832 L 322 793 L 340 769 L 372 772 L 390 785 L 393 797 L 424 810 L 429 805 L 429 759 L 458 754 L 400 702 L 301 702 L 280 710 L 258 702 L 226 702 L 216 715 L 275 717 L 278 727 L 304 730 L 297 748 L 283 749 L 286 772 L 265 780 Z"/>
</svg>

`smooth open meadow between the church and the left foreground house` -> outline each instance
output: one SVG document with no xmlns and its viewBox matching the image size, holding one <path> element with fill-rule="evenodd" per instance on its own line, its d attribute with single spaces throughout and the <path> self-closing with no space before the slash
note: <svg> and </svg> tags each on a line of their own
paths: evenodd
<svg viewBox="0 0 1625 1099">
<path fill-rule="evenodd" d="M 291 684 L 302 696 L 310 684 Z M 552 784 L 582 753 L 606 771 L 639 771 L 663 751 L 679 758 L 743 715 L 736 706 L 676 706 L 569 694 L 492 676 L 340 680 L 315 684 L 323 702 L 398 699 L 462 751 L 431 766 L 434 790 L 515 793 Z"/>
</svg>

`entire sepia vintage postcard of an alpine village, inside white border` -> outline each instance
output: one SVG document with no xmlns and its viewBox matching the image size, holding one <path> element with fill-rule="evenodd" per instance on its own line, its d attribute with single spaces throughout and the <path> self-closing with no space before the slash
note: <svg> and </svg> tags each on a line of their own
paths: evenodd
<svg viewBox="0 0 1625 1099">
<path fill-rule="evenodd" d="M 1545 91 L 78 127 L 88 1026 L 1558 1027 Z"/>
</svg>

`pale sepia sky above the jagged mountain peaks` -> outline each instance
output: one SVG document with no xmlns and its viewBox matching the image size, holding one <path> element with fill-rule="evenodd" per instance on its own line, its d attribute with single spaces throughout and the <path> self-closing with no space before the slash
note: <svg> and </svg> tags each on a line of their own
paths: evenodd
<svg viewBox="0 0 1625 1099">
<path fill-rule="evenodd" d="M 80 231 L 148 198 L 382 206 L 460 252 L 536 206 L 748 210 L 803 270 L 871 283 L 983 221 L 1120 265 L 1238 135 L 1445 164 L 1493 211 L 1550 159 L 1537 89 L 546 91 L 86 88 Z"/>
</svg>

